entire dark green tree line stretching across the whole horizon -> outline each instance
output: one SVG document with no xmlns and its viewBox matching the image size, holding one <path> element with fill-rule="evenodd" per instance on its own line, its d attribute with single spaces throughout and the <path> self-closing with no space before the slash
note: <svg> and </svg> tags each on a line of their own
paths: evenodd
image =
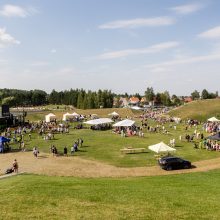
<svg viewBox="0 0 220 220">
<path fill-rule="evenodd" d="M 16 106 L 39 106 L 39 105 L 72 105 L 79 109 L 95 109 L 95 108 L 112 108 L 114 98 L 120 106 L 120 97 L 130 98 L 132 96 L 141 98 L 145 97 L 146 102 L 154 102 L 159 105 L 171 106 L 180 105 L 184 97 L 176 95 L 170 96 L 168 91 L 154 92 L 152 87 L 148 87 L 141 96 L 136 94 L 115 94 L 111 90 L 91 91 L 84 89 L 70 89 L 64 91 L 53 90 L 51 93 L 46 93 L 43 90 L 18 90 L 18 89 L 0 89 L 0 104 L 7 104 L 10 107 Z M 218 92 L 210 93 L 206 89 L 202 92 L 197 90 L 191 93 L 191 98 L 195 99 L 212 99 L 218 97 Z M 116 105 L 117 107 L 117 105 Z"/>
</svg>

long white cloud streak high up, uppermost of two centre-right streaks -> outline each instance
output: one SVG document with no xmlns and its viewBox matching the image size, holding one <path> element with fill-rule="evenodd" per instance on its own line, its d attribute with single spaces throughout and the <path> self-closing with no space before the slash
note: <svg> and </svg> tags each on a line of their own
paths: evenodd
<svg viewBox="0 0 220 220">
<path fill-rule="evenodd" d="M 138 27 L 154 27 L 167 26 L 175 23 L 175 19 L 171 17 L 154 17 L 154 18 L 136 18 L 131 20 L 118 20 L 102 24 L 100 29 L 117 29 L 117 28 L 138 28 Z"/>
</svg>

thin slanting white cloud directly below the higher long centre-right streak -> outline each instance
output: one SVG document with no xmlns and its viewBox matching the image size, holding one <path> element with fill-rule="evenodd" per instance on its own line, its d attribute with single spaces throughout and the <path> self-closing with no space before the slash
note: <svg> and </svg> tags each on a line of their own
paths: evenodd
<svg viewBox="0 0 220 220">
<path fill-rule="evenodd" d="M 169 41 L 160 44 L 155 44 L 147 48 L 139 48 L 139 49 L 127 49 L 127 50 L 119 50 L 108 53 L 103 53 L 98 55 L 96 58 L 105 60 L 105 59 L 115 59 L 122 58 L 131 55 L 140 55 L 140 54 L 149 54 L 149 53 L 158 53 L 163 50 L 175 48 L 179 45 L 176 41 Z"/>
</svg>

